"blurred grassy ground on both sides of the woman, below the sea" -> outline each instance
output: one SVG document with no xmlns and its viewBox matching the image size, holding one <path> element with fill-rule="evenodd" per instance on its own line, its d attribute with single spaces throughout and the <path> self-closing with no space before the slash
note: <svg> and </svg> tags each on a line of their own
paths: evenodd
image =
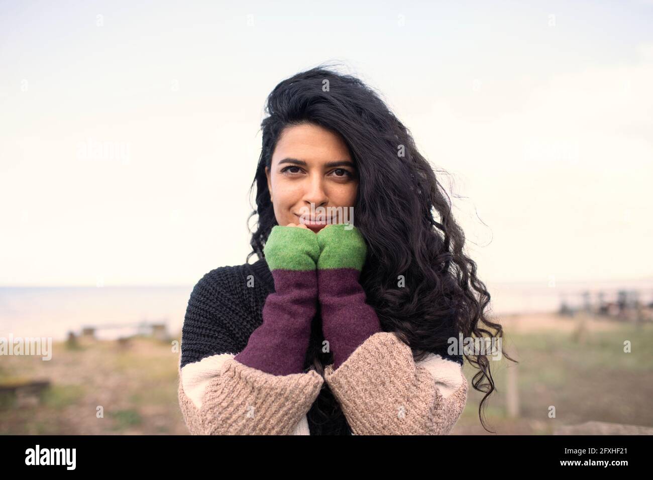
<svg viewBox="0 0 653 480">
<path fill-rule="evenodd" d="M 486 417 L 498 434 L 551 434 L 556 426 L 603 421 L 653 426 L 653 325 L 586 322 L 528 315 L 502 319 L 504 349 L 516 352 L 520 417 L 505 408 L 505 359 L 490 361 L 498 389 Z M 179 337 L 177 337 L 179 338 Z M 631 353 L 624 353 L 624 340 Z M 52 360 L 3 357 L 0 383 L 50 379 L 39 398 L 0 396 L 0 434 L 187 434 L 177 400 L 178 353 L 170 343 L 136 338 L 86 342 L 78 349 L 53 345 Z M 471 388 L 453 434 L 486 434 L 478 416 L 483 396 Z M 97 417 L 97 408 L 103 417 Z M 549 418 L 549 408 L 556 417 Z"/>
</svg>

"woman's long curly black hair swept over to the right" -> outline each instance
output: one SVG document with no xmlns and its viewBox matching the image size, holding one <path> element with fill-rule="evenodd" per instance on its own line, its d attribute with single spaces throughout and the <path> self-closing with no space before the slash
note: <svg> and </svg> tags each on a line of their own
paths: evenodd
<svg viewBox="0 0 653 480">
<path fill-rule="evenodd" d="M 265 167 L 270 167 L 279 136 L 287 127 L 313 123 L 342 136 L 357 166 L 355 225 L 368 244 L 360 283 L 383 330 L 396 332 L 410 345 L 415 361 L 428 353 L 446 355 L 447 340 L 458 338 L 458 332 L 465 338 L 501 338 L 501 325 L 486 317 L 490 294 L 464 253 L 464 232 L 436 172 L 381 95 L 355 76 L 329 67 L 299 72 L 268 95 L 261 157 L 250 187 L 250 198 L 257 188 L 256 207 L 247 224 L 252 216 L 258 220 L 247 261 L 255 253 L 264 258 L 266 239 L 277 225 Z M 313 364 L 323 373 L 332 354 L 322 352 L 321 325 L 313 324 L 305 368 Z M 483 404 L 494 391 L 490 364 L 486 355 L 465 351 L 464 357 L 479 369 L 471 383 L 485 392 L 479 418 L 487 430 Z M 308 415 L 318 430 L 314 434 L 351 433 L 326 382 Z"/>
</svg>

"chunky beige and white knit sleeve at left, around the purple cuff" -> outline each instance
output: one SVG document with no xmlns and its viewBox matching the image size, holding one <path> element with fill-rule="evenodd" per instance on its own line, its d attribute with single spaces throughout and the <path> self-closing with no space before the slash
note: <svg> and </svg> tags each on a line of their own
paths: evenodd
<svg viewBox="0 0 653 480">
<path fill-rule="evenodd" d="M 178 396 L 191 434 L 291 435 L 323 382 L 313 370 L 276 376 L 223 353 L 180 368 Z"/>
</svg>

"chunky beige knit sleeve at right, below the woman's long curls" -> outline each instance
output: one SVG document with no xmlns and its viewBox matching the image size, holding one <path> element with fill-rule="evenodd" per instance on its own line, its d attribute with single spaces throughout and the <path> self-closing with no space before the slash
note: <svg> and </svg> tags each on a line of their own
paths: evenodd
<svg viewBox="0 0 653 480">
<path fill-rule="evenodd" d="M 434 354 L 416 364 L 392 332 L 370 336 L 324 378 L 356 435 L 445 435 L 467 401 L 460 364 Z"/>
</svg>

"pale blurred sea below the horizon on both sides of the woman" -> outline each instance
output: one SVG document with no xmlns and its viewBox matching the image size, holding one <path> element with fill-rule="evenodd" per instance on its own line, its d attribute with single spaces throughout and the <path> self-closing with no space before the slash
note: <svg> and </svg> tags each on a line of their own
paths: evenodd
<svg viewBox="0 0 653 480">
<path fill-rule="evenodd" d="M 653 302 L 653 278 L 631 281 L 557 283 L 487 283 L 494 315 L 554 312 L 562 300 L 580 308 L 582 293 L 598 292 L 614 301 L 620 289 L 637 291 Z M 95 327 L 97 338 L 113 340 L 141 331 L 142 323 L 165 323 L 176 335 L 183 325 L 193 285 L 176 287 L 0 287 L 0 337 L 52 337 L 65 340 Z"/>
</svg>

